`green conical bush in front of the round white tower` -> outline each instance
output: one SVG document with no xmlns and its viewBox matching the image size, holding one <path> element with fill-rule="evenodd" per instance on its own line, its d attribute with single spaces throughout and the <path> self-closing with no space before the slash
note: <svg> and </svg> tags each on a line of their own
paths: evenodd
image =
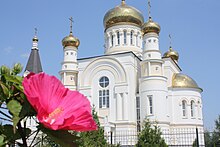
<svg viewBox="0 0 220 147">
<path fill-rule="evenodd" d="M 136 147 L 167 147 L 162 133 L 157 125 L 152 125 L 147 119 L 144 122 L 143 130 L 138 135 Z"/>
</svg>

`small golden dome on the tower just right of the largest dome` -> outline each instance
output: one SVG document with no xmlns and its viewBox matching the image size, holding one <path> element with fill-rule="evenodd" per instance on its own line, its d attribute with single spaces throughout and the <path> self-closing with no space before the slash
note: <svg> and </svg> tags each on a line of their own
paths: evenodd
<svg viewBox="0 0 220 147">
<path fill-rule="evenodd" d="M 160 25 L 154 22 L 150 17 L 149 20 L 146 23 L 144 23 L 144 25 L 142 26 L 142 31 L 144 34 L 152 33 L 152 32 L 159 34 Z"/>
</svg>

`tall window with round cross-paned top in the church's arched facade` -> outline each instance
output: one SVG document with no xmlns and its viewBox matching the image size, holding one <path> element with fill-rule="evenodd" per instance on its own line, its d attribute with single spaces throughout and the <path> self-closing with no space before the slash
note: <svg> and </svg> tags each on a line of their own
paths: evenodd
<svg viewBox="0 0 220 147">
<path fill-rule="evenodd" d="M 109 108 L 109 79 L 104 76 L 99 79 L 99 108 Z"/>
</svg>

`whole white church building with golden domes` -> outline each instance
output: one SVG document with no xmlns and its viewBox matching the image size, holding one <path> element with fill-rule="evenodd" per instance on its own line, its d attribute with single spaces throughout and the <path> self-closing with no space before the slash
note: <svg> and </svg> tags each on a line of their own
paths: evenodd
<svg viewBox="0 0 220 147">
<path fill-rule="evenodd" d="M 175 50 L 161 53 L 160 25 L 151 17 L 145 22 L 142 13 L 124 0 L 107 11 L 103 22 L 104 54 L 78 59 L 80 41 L 71 30 L 62 40 L 59 74 L 67 88 L 79 90 L 95 106 L 105 133 L 137 134 L 146 118 L 163 133 L 181 134 L 196 127 L 203 131 L 202 89 L 181 71 Z M 181 142 L 178 138 L 165 141 L 175 145 Z"/>
</svg>

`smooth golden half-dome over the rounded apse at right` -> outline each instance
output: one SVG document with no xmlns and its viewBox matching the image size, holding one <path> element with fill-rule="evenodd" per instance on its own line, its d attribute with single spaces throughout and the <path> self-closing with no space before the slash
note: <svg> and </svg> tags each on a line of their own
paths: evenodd
<svg viewBox="0 0 220 147">
<path fill-rule="evenodd" d="M 172 79 L 172 87 L 173 88 L 199 88 L 196 81 L 194 81 L 191 77 L 188 75 L 182 74 L 182 73 L 175 73 L 173 75 Z"/>
</svg>

